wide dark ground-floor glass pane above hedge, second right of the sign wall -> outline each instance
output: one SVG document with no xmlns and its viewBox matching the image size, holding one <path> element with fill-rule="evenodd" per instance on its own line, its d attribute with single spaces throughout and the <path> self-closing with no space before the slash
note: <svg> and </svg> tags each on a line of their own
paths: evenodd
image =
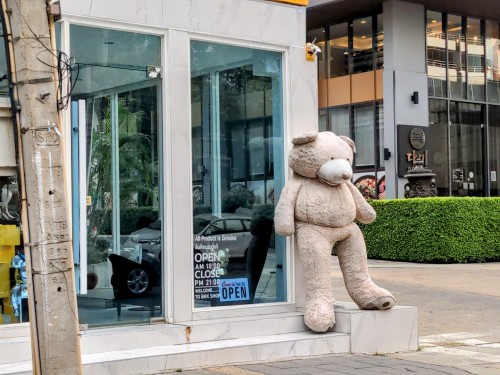
<svg viewBox="0 0 500 375">
<path fill-rule="evenodd" d="M 450 102 L 450 160 L 453 196 L 483 196 L 484 106 Z"/>
</svg>

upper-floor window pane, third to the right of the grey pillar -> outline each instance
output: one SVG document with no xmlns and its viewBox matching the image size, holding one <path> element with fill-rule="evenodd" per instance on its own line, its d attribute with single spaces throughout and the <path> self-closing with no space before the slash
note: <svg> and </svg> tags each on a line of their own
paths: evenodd
<svg viewBox="0 0 500 375">
<path fill-rule="evenodd" d="M 481 21 L 467 18 L 467 97 L 484 101 L 484 38 Z"/>
</svg>

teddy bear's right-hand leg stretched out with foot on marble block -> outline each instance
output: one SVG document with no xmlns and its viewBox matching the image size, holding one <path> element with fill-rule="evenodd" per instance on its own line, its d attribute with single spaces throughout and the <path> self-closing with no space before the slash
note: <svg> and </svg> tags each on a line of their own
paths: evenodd
<svg viewBox="0 0 500 375">
<path fill-rule="evenodd" d="M 347 292 L 361 309 L 390 309 L 396 304 L 396 299 L 390 292 L 378 287 L 368 274 L 363 233 L 355 223 L 349 225 L 349 232 L 350 235 L 336 246 Z"/>
</svg>

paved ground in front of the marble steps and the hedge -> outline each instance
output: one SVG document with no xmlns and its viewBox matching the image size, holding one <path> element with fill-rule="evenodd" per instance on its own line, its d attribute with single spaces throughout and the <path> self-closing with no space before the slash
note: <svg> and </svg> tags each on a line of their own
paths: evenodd
<svg viewBox="0 0 500 375">
<path fill-rule="evenodd" d="M 398 304 L 418 307 L 418 352 L 329 355 L 178 371 L 200 375 L 500 374 L 500 263 L 368 263 L 373 280 L 390 290 Z M 332 257 L 332 279 L 335 298 L 350 301 L 336 257 Z"/>
</svg>

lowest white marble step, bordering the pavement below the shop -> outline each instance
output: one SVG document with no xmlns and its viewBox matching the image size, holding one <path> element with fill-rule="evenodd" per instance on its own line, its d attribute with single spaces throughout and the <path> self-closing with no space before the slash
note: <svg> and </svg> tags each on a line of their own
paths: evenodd
<svg viewBox="0 0 500 375">
<path fill-rule="evenodd" d="M 309 331 L 84 354 L 82 361 L 85 374 L 127 375 L 348 353 L 349 348 L 348 334 L 316 334 Z M 30 373 L 30 361 L 0 365 L 0 375 Z"/>
</svg>

